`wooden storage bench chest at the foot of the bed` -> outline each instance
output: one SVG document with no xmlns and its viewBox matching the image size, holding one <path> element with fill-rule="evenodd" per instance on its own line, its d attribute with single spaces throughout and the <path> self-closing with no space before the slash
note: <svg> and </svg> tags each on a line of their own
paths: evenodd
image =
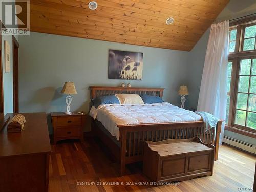
<svg viewBox="0 0 256 192">
<path fill-rule="evenodd" d="M 214 145 L 200 138 L 146 141 L 143 172 L 152 181 L 184 181 L 198 176 L 211 176 Z"/>
</svg>

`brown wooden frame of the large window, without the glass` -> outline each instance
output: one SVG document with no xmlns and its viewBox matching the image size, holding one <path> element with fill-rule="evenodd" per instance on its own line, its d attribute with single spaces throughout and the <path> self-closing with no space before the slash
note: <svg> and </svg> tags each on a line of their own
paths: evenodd
<svg viewBox="0 0 256 192">
<path fill-rule="evenodd" d="M 236 132 L 236 133 L 240 133 L 246 136 L 256 138 L 256 129 L 246 127 L 247 115 L 249 111 L 248 103 L 249 103 L 250 87 L 247 93 L 248 95 L 247 105 L 246 105 L 247 107 L 246 107 L 246 110 L 244 110 L 246 111 L 245 126 L 241 126 L 234 123 L 236 118 L 235 116 L 236 116 L 236 109 L 237 109 L 238 83 L 239 83 L 239 72 L 240 72 L 241 60 L 252 59 L 251 60 L 251 64 L 252 64 L 253 59 L 256 59 L 256 49 L 243 51 L 245 28 L 253 25 L 256 25 L 256 15 L 249 16 L 249 18 L 243 18 L 240 21 L 236 20 L 234 22 L 229 23 L 229 30 L 237 29 L 237 34 L 236 34 L 236 45 L 235 45 L 234 52 L 230 52 L 228 56 L 228 62 L 232 62 L 232 72 L 231 72 L 230 92 L 229 92 L 229 95 L 230 95 L 229 115 L 228 115 L 228 123 L 225 124 L 225 129 L 228 131 L 232 131 L 232 132 Z M 255 37 L 255 47 L 256 47 L 256 37 Z M 252 70 L 252 65 L 251 65 L 251 70 Z M 250 77 L 249 78 L 249 86 L 250 86 L 251 73 L 249 77 Z"/>
</svg>

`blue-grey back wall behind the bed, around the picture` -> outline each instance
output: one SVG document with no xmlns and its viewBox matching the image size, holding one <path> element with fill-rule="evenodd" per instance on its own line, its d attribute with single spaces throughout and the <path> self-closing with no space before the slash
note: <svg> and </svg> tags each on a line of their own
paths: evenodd
<svg viewBox="0 0 256 192">
<path fill-rule="evenodd" d="M 109 49 L 143 52 L 143 79 L 108 79 Z M 20 36 L 20 112 L 65 111 L 66 96 L 60 93 L 65 81 L 74 81 L 78 92 L 73 96 L 71 111 L 89 111 L 90 85 L 118 86 L 122 82 L 132 86 L 164 87 L 164 100 L 180 105 L 177 92 L 181 84 L 186 84 L 184 71 L 188 54 L 43 33 Z"/>
</svg>

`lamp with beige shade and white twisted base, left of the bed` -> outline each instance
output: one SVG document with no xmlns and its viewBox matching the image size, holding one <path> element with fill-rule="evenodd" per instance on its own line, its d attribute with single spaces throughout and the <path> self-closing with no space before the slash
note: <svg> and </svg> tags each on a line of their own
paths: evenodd
<svg viewBox="0 0 256 192">
<path fill-rule="evenodd" d="M 67 103 L 67 111 L 65 114 L 72 114 L 70 112 L 70 104 L 72 102 L 72 94 L 77 94 L 76 88 L 75 88 L 75 83 L 74 82 L 65 82 L 63 89 L 61 90 L 61 93 L 63 94 L 68 94 L 66 97 L 66 103 Z"/>
</svg>

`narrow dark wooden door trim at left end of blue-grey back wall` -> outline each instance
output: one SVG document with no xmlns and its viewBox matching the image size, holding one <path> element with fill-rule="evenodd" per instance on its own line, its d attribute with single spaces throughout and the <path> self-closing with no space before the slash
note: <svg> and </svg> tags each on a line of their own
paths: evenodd
<svg viewBox="0 0 256 192">
<path fill-rule="evenodd" d="M 12 36 L 12 76 L 13 76 L 13 113 L 19 112 L 19 96 L 18 96 L 18 52 L 15 54 L 15 47 L 19 48 L 17 39 Z M 15 57 L 17 59 L 15 59 Z"/>
</svg>

